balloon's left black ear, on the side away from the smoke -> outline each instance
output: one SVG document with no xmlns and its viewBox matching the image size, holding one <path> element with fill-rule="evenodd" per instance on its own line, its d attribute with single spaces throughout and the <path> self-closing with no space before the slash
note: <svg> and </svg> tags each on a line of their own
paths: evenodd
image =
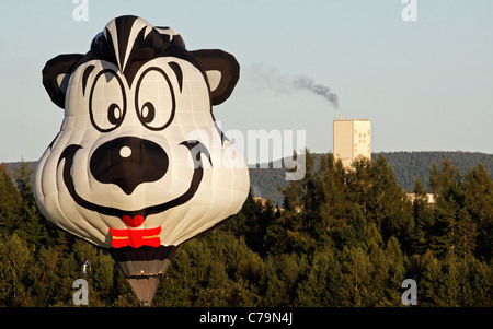
<svg viewBox="0 0 493 329">
<path fill-rule="evenodd" d="M 80 54 L 59 55 L 48 60 L 43 69 L 43 85 L 53 103 L 61 108 L 65 107 L 65 93 L 70 74 L 82 57 Z"/>
</svg>

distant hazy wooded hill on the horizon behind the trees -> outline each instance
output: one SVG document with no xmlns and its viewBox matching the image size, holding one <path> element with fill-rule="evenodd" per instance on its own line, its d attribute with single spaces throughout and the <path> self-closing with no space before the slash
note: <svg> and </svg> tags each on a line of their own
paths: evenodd
<svg viewBox="0 0 493 329">
<path fill-rule="evenodd" d="M 412 190 L 414 187 L 414 179 L 417 177 L 423 183 L 425 189 L 429 189 L 428 176 L 429 168 L 433 164 L 439 165 L 442 161 L 449 158 L 450 162 L 456 165 L 460 173 L 466 174 L 469 168 L 482 163 L 493 177 L 493 154 L 479 153 L 479 152 L 381 152 L 372 153 L 371 157 L 377 158 L 381 154 L 386 157 L 388 164 L 392 167 L 395 174 L 395 180 L 405 190 Z M 320 163 L 320 156 L 322 154 L 313 153 L 316 169 Z M 30 162 L 34 167 L 35 162 Z M 278 162 L 276 163 L 278 164 Z M 19 163 L 7 163 L 7 167 L 12 172 Z M 276 165 L 275 167 L 278 167 Z M 255 197 L 267 198 L 273 201 L 274 204 L 283 205 L 283 195 L 278 191 L 278 187 L 285 187 L 285 172 L 283 168 L 273 168 L 273 164 L 270 164 L 270 168 L 250 168 L 250 181 L 252 193 Z"/>
</svg>

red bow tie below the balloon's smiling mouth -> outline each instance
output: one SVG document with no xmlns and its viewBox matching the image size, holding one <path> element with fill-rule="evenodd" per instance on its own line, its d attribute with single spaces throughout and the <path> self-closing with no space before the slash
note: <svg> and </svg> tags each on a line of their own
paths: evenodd
<svg viewBox="0 0 493 329">
<path fill-rule="evenodd" d="M 110 227 L 110 233 L 113 236 L 113 248 L 122 248 L 130 246 L 139 248 L 141 246 L 159 247 L 161 245 L 161 226 L 156 228 L 142 230 L 116 230 Z"/>
</svg>

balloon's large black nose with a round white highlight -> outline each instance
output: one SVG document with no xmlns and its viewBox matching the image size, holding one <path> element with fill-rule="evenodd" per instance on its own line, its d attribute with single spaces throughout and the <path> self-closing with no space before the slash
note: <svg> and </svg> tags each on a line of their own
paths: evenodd
<svg viewBox="0 0 493 329">
<path fill-rule="evenodd" d="M 163 177 L 168 165 L 168 155 L 160 145 L 136 137 L 102 144 L 90 161 L 91 174 L 98 181 L 116 184 L 127 195 L 142 183 Z"/>
</svg>

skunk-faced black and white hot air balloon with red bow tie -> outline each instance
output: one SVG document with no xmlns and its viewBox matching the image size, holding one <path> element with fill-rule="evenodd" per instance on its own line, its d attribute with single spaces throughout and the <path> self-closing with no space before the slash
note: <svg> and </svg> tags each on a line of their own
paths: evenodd
<svg viewBox="0 0 493 329">
<path fill-rule="evenodd" d="M 43 69 L 65 117 L 35 168 L 36 202 L 58 227 L 106 248 L 142 305 L 177 247 L 246 199 L 248 167 L 213 115 L 238 79 L 232 55 L 188 51 L 174 30 L 129 15 L 87 54 Z"/>
</svg>

